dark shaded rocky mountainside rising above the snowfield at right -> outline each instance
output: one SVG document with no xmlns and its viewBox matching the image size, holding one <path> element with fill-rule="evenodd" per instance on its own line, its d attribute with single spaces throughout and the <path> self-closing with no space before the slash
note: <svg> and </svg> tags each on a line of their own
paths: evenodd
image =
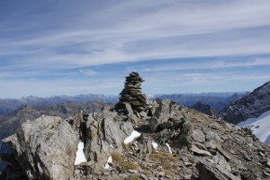
<svg viewBox="0 0 270 180">
<path fill-rule="evenodd" d="M 257 87 L 251 94 L 242 97 L 224 108 L 219 116 L 225 121 L 238 124 L 248 118 L 256 118 L 270 110 L 270 81 Z"/>
</svg>

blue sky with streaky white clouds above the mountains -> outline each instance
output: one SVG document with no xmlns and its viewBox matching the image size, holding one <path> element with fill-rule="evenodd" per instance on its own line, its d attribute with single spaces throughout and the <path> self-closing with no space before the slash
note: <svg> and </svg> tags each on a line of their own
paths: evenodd
<svg viewBox="0 0 270 180">
<path fill-rule="evenodd" d="M 267 0 L 0 0 L 0 98 L 251 91 L 269 31 Z"/>
</svg>

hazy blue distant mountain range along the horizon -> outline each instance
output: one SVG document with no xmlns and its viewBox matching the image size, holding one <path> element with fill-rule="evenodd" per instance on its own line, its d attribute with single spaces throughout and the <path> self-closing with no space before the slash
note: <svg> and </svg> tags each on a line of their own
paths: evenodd
<svg viewBox="0 0 270 180">
<path fill-rule="evenodd" d="M 237 93 L 207 93 L 207 94 L 157 94 L 152 99 L 170 99 L 179 104 L 192 107 L 194 103 L 202 102 L 209 104 L 216 112 L 220 112 L 226 105 L 237 101 L 248 94 L 247 92 Z M 90 101 L 103 101 L 106 103 L 117 103 L 118 95 L 104 94 L 80 94 L 75 96 L 58 95 L 51 97 L 27 96 L 19 99 L 0 99 L 0 115 L 7 115 L 24 105 L 42 106 L 56 103 L 86 103 Z M 1 117 L 0 117 L 1 121 Z"/>
</svg>

